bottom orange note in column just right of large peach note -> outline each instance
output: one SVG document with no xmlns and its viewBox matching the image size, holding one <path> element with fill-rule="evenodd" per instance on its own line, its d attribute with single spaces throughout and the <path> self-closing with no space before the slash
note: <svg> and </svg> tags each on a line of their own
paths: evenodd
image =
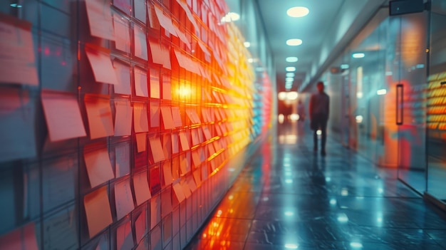
<svg viewBox="0 0 446 250">
<path fill-rule="evenodd" d="M 100 189 L 90 194 L 85 194 L 83 206 L 85 207 L 90 238 L 93 238 L 113 222 L 106 186 L 100 187 Z"/>
</svg>

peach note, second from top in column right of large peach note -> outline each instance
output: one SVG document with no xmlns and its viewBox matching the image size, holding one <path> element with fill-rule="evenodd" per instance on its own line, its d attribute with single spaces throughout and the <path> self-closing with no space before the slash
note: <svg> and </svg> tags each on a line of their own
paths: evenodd
<svg viewBox="0 0 446 250">
<path fill-rule="evenodd" d="M 105 52 L 106 51 L 106 52 Z M 101 51 L 85 46 L 88 61 L 93 69 L 95 80 L 99 83 L 118 84 L 115 69 L 110 60 L 110 51 L 103 48 Z"/>
</svg>

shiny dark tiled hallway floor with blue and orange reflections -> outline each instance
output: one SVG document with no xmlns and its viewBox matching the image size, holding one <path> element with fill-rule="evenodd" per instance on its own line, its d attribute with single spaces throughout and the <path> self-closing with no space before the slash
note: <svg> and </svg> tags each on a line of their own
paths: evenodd
<svg viewBox="0 0 446 250">
<path fill-rule="evenodd" d="M 445 214 L 395 170 L 279 128 L 187 249 L 446 249 Z"/>
</svg>

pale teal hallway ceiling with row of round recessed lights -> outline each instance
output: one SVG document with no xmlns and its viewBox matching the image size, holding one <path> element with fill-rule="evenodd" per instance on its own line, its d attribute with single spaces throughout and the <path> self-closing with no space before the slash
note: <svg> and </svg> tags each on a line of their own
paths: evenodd
<svg viewBox="0 0 446 250">
<path fill-rule="evenodd" d="M 234 0 L 232 0 L 234 1 Z M 243 0 L 239 0 L 243 1 Z M 259 6 L 266 37 L 276 66 L 277 90 L 285 90 L 285 68 L 295 66 L 291 90 L 306 90 L 343 51 L 385 0 L 254 0 Z M 309 14 L 290 17 L 287 9 L 305 6 Z M 286 40 L 299 38 L 300 46 L 287 46 Z M 299 61 L 287 63 L 296 56 Z"/>
</svg>

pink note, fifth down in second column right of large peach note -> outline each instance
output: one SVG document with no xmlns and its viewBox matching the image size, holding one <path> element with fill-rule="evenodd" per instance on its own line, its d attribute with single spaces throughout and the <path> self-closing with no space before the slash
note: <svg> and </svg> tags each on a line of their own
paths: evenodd
<svg viewBox="0 0 446 250">
<path fill-rule="evenodd" d="M 130 188 L 130 178 L 115 183 L 115 206 L 118 220 L 135 209 L 133 205 L 132 189 Z"/>
</svg>

